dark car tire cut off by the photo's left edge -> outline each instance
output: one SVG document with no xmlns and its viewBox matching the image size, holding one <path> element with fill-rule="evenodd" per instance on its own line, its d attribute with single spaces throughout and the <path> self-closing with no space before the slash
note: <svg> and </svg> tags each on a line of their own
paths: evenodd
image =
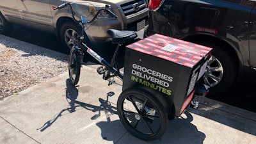
<svg viewBox="0 0 256 144">
<path fill-rule="evenodd" d="M 0 12 L 0 34 L 10 35 L 13 31 L 13 24 L 8 22 Z"/>
</svg>

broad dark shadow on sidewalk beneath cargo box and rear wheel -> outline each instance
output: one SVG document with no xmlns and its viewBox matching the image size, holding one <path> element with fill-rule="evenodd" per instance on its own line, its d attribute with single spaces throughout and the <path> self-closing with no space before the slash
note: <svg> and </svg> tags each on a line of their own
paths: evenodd
<svg viewBox="0 0 256 144">
<path fill-rule="evenodd" d="M 154 141 L 140 140 L 132 136 L 129 132 L 124 132 L 125 134 L 122 136 L 122 138 L 116 138 L 116 134 L 113 134 L 112 131 L 118 133 L 122 131 L 127 131 L 125 127 L 121 124 L 120 120 L 115 120 L 111 122 L 99 122 L 96 125 L 101 129 L 102 139 L 113 141 L 113 143 L 204 143 L 205 134 L 198 131 L 196 126 L 191 124 L 191 122 L 193 121 L 193 116 L 188 111 L 185 111 L 184 115 L 186 115 L 186 118 L 170 120 L 164 135 L 159 140 Z M 120 127 L 120 125 L 122 126 Z M 109 129 L 111 129 L 112 131 L 109 132 Z"/>
</svg>

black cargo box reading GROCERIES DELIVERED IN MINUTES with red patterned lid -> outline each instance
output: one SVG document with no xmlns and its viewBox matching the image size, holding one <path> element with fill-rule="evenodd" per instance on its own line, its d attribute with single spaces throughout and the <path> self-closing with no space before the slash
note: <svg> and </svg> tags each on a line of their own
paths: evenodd
<svg viewBox="0 0 256 144">
<path fill-rule="evenodd" d="M 123 91 L 147 90 L 169 113 L 180 116 L 193 99 L 196 82 L 204 75 L 211 50 L 159 34 L 127 45 Z"/>
</svg>

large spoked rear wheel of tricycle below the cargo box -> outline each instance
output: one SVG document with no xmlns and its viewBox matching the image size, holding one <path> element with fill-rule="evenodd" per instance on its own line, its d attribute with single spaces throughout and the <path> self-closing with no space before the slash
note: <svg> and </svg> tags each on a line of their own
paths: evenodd
<svg viewBox="0 0 256 144">
<path fill-rule="evenodd" d="M 125 90 L 118 97 L 117 111 L 124 127 L 141 140 L 156 140 L 166 131 L 167 113 L 151 93 L 140 89 Z"/>
</svg>

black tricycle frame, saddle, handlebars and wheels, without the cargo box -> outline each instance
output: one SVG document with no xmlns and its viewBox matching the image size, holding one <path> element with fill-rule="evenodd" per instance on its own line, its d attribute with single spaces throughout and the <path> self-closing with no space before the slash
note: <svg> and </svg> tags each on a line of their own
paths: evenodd
<svg viewBox="0 0 256 144">
<path fill-rule="evenodd" d="M 77 26 L 81 27 L 81 35 L 77 36 L 74 47 L 70 49 L 69 54 L 68 74 L 70 83 L 73 86 L 76 86 L 78 83 L 83 57 L 86 52 L 102 65 L 97 68 L 97 72 L 103 74 L 102 78 L 108 80 L 109 85 L 115 83 L 115 81 L 111 79 L 112 77 L 118 77 L 123 80 L 124 74 L 120 72 L 120 67 L 118 67 L 118 51 L 125 43 L 135 40 L 138 36 L 137 33 L 135 31 L 108 29 L 107 33 L 111 36 L 112 43 L 116 44 L 116 49 L 111 58 L 111 62 L 108 63 L 108 61 L 104 60 L 104 58 L 84 44 L 83 39 L 85 25 L 95 21 L 100 12 L 107 12 L 113 17 L 117 17 L 115 13 L 109 10 L 109 5 L 106 5 L 104 9 L 99 10 L 90 21 L 83 16 L 81 16 L 81 20 L 77 20 L 72 8 L 72 3 L 63 3 L 54 8 L 54 10 L 60 10 L 65 6 L 70 6 L 74 22 L 76 22 Z M 161 100 L 154 97 L 152 93 L 141 88 L 124 90 L 118 97 L 117 112 L 124 127 L 141 140 L 156 140 L 163 136 L 166 131 L 166 125 L 168 124 L 168 116 L 170 115 L 170 113 L 167 113 L 163 104 L 161 104 Z"/>
</svg>

